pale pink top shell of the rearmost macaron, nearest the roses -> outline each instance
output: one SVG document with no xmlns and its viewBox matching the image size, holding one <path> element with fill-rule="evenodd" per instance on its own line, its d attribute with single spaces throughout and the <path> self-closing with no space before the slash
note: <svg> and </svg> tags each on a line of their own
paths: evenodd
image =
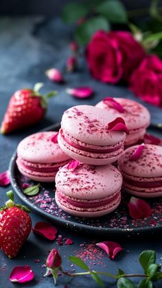
<svg viewBox="0 0 162 288">
<path fill-rule="evenodd" d="M 146 107 L 132 99 L 115 97 L 113 97 L 113 99 L 117 101 L 122 108 L 124 108 L 124 112 L 119 112 L 113 108 L 111 102 L 108 104 L 108 101 L 106 104 L 104 101 L 100 101 L 96 104 L 96 107 L 108 110 L 108 112 L 113 114 L 115 117 L 122 117 L 126 122 L 127 128 L 130 130 L 148 127 L 150 124 L 150 112 Z"/>
</svg>

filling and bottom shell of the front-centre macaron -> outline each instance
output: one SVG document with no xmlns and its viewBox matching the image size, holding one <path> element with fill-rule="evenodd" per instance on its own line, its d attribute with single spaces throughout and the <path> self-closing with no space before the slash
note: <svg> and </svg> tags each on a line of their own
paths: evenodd
<svg viewBox="0 0 162 288">
<path fill-rule="evenodd" d="M 117 193 L 115 193 L 115 197 L 113 197 L 113 200 L 108 204 L 101 205 L 96 208 L 86 208 L 86 207 L 80 208 L 78 206 L 69 204 L 69 202 L 67 202 L 65 198 L 62 199 L 58 190 L 56 190 L 55 200 L 58 206 L 62 209 L 62 211 L 65 211 L 66 213 L 71 214 L 73 216 L 100 217 L 113 212 L 117 208 L 117 206 L 119 206 L 119 203 L 121 201 L 121 192 L 118 191 Z"/>
</svg>

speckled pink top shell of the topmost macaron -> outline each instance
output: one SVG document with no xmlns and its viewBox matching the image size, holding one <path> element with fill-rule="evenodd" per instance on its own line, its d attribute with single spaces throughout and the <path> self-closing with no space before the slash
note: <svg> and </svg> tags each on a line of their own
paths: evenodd
<svg viewBox="0 0 162 288">
<path fill-rule="evenodd" d="M 80 105 L 64 112 L 61 121 L 63 132 L 75 139 L 91 145 L 114 145 L 124 141 L 126 134 L 121 131 L 108 131 L 108 123 L 116 116 L 100 108 Z"/>
</svg>

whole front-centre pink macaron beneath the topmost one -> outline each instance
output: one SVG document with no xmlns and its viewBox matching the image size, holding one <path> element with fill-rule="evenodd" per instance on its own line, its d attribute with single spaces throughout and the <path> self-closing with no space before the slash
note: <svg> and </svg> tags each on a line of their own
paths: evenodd
<svg viewBox="0 0 162 288">
<path fill-rule="evenodd" d="M 78 163 L 78 161 L 73 160 Z M 122 175 L 113 165 L 67 164 L 56 174 L 56 203 L 80 217 L 111 213 L 121 200 Z"/>
</svg>

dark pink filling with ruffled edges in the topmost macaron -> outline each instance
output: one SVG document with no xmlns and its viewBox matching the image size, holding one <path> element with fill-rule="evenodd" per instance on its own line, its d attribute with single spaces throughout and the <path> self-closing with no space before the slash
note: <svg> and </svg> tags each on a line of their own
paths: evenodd
<svg viewBox="0 0 162 288">
<path fill-rule="evenodd" d="M 62 139 L 72 147 L 76 149 L 80 149 L 85 152 L 95 153 L 95 154 L 109 154 L 111 152 L 116 152 L 119 149 L 122 148 L 124 141 L 121 141 L 120 143 L 117 143 L 116 145 L 108 145 L 108 146 L 97 146 L 97 145 L 89 145 L 87 143 L 83 143 L 79 141 L 78 139 L 75 139 L 73 136 L 63 132 L 62 129 L 60 129 L 60 136 Z"/>
</svg>

